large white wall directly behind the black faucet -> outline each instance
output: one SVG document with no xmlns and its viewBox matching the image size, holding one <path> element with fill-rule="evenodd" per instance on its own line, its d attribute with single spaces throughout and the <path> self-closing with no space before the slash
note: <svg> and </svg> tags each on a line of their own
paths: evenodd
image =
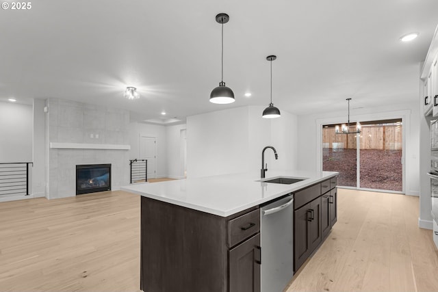
<svg viewBox="0 0 438 292">
<path fill-rule="evenodd" d="M 296 117 L 263 119 L 264 107 L 236 107 L 187 118 L 188 177 L 250 172 L 260 175 L 261 150 L 269 170 L 296 169 Z"/>
</svg>

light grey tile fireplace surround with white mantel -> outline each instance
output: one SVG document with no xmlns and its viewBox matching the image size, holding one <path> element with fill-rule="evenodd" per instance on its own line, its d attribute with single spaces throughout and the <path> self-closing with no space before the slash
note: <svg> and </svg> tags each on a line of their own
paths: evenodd
<svg viewBox="0 0 438 292">
<path fill-rule="evenodd" d="M 47 198 L 76 196 L 76 165 L 111 164 L 111 189 L 129 183 L 128 111 L 57 98 L 46 106 Z"/>
</svg>

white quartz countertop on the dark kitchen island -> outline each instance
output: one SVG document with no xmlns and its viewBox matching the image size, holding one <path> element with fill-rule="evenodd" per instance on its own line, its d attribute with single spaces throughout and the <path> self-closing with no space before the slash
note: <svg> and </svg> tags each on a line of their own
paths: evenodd
<svg viewBox="0 0 438 292">
<path fill-rule="evenodd" d="M 225 174 L 159 183 L 138 183 L 121 187 L 121 189 L 162 202 L 227 217 L 319 183 L 337 174 L 338 172 L 288 170 L 266 172 L 266 178 L 263 178 L 263 180 L 278 176 L 306 178 L 304 181 L 291 185 L 263 183 L 260 181 L 261 178 L 250 174 Z"/>
</svg>

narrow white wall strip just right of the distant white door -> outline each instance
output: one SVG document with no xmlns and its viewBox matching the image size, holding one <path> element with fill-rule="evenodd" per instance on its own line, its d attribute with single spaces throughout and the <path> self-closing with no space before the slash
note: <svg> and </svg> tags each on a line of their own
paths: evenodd
<svg viewBox="0 0 438 292">
<path fill-rule="evenodd" d="M 169 178 L 184 178 L 185 153 L 183 148 L 186 142 L 186 128 L 185 124 L 166 127 L 167 177 Z"/>
</svg>

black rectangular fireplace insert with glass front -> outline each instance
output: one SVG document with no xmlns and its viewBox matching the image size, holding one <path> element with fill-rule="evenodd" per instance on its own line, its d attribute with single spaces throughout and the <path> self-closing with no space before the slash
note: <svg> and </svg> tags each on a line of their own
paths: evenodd
<svg viewBox="0 0 438 292">
<path fill-rule="evenodd" d="M 76 194 L 111 191 L 111 164 L 76 165 Z"/>
</svg>

